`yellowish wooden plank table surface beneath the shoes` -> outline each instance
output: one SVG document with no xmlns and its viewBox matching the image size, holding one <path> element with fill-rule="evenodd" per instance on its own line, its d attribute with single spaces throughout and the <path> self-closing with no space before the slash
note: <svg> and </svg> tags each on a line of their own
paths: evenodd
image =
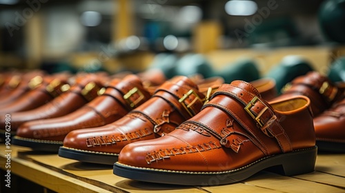
<svg viewBox="0 0 345 193">
<path fill-rule="evenodd" d="M 0 168 L 7 170 L 0 144 Z M 345 192 L 345 154 L 318 154 L 315 172 L 280 176 L 259 172 L 230 185 L 211 187 L 132 181 L 112 174 L 112 166 L 81 163 L 11 145 L 11 172 L 56 192 Z M 1 182 L 3 183 L 3 182 Z"/>
</svg>

